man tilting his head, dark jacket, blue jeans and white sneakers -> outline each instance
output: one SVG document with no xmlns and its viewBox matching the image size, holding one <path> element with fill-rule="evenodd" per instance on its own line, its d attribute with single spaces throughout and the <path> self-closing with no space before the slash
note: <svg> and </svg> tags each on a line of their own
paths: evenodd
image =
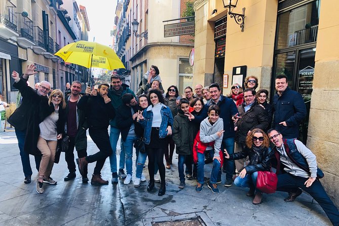
<svg viewBox="0 0 339 226">
<path fill-rule="evenodd" d="M 124 184 L 129 184 L 132 180 L 132 156 L 133 156 L 133 144 L 138 139 L 134 132 L 135 119 L 137 114 L 137 102 L 135 97 L 131 93 L 126 93 L 122 96 L 123 104 L 117 111 L 117 125 L 121 130 L 121 139 L 125 147 L 125 161 L 127 177 L 124 180 Z"/>
</svg>

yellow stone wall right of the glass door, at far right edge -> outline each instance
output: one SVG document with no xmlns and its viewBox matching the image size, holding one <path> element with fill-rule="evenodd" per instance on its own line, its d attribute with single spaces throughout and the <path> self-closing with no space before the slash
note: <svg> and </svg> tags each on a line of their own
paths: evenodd
<svg viewBox="0 0 339 226">
<path fill-rule="evenodd" d="M 339 4 L 321 1 L 315 71 L 308 130 L 308 147 L 317 156 L 325 176 L 321 179 L 339 206 Z"/>
</svg>

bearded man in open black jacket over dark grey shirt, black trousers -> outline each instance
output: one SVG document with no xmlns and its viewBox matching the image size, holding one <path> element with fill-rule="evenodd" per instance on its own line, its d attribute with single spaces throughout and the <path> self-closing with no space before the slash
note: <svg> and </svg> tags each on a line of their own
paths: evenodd
<svg viewBox="0 0 339 226">
<path fill-rule="evenodd" d="M 81 82 L 73 81 L 70 86 L 70 94 L 65 97 L 66 101 L 66 131 L 69 138 L 68 149 L 65 152 L 65 160 L 69 170 L 65 181 L 76 178 L 76 163 L 74 163 L 74 146 L 77 149 L 78 157 L 87 156 L 87 123 L 85 111 L 77 107 L 78 102 L 83 97 L 81 92 Z M 84 169 L 83 183 L 88 182 L 87 167 Z"/>
</svg>

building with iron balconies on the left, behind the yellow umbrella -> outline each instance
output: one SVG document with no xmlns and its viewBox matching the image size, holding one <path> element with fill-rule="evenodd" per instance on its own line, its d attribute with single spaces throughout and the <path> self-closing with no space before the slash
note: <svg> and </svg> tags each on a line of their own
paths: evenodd
<svg viewBox="0 0 339 226">
<path fill-rule="evenodd" d="M 67 15 L 67 10 L 61 7 L 62 0 L 0 0 L 0 92 L 5 101 L 16 102 L 12 71 L 23 73 L 32 63 L 39 73 L 29 78 L 31 87 L 45 80 L 53 89 L 64 90 L 66 82 L 87 81 L 86 68 L 67 64 L 54 56 L 61 47 L 80 40 L 81 23 L 88 24 L 77 3 L 67 2 L 72 2 L 71 12 L 76 12 L 77 20 L 73 14 L 72 18 Z M 79 24 L 78 30 L 74 31 L 73 23 Z"/>
</svg>

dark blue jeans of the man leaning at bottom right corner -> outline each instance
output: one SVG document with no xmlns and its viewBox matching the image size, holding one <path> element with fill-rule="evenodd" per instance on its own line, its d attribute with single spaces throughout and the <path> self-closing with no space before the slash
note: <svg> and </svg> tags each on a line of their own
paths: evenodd
<svg viewBox="0 0 339 226">
<path fill-rule="evenodd" d="M 339 225 L 338 209 L 328 197 L 321 182 L 316 179 L 311 186 L 306 187 L 306 180 L 308 178 L 293 176 L 289 173 L 278 174 L 277 191 L 288 192 L 292 188 L 300 187 L 318 202 L 333 225 Z"/>
</svg>

